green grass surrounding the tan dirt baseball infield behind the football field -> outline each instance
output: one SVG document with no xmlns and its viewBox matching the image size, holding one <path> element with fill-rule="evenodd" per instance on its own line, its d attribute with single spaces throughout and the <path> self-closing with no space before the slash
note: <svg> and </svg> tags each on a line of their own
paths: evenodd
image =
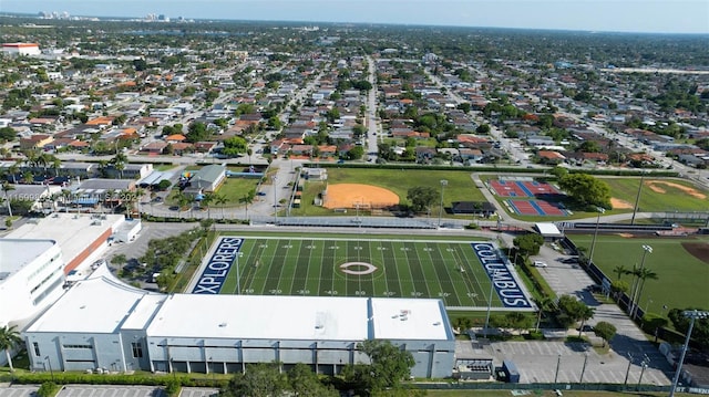
<svg viewBox="0 0 709 397">
<path fill-rule="evenodd" d="M 359 184 L 371 185 L 393 191 L 400 202 L 407 202 L 407 191 L 417 186 L 429 186 L 441 189 L 441 180 L 448 180 L 443 191 L 443 207 L 451 207 L 453 201 L 483 201 L 484 196 L 475 187 L 470 171 L 458 170 L 418 170 L 418 169 L 361 169 L 361 168 L 328 168 L 327 185 Z M 326 182 L 306 182 L 300 208 L 291 209 L 292 216 L 333 215 L 332 210 L 315 207 L 314 198 L 325 189 Z M 363 198 L 366 200 L 366 198 Z M 431 208 L 431 217 L 439 216 L 439 202 Z M 451 217 L 443 213 L 443 217 Z"/>
</svg>

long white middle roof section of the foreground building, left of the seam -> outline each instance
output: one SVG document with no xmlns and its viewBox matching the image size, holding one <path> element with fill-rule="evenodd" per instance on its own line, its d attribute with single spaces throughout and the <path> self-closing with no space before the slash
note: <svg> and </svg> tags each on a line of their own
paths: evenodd
<svg viewBox="0 0 709 397">
<path fill-rule="evenodd" d="M 176 294 L 147 335 L 363 341 L 367 314 L 364 297 Z"/>
</svg>

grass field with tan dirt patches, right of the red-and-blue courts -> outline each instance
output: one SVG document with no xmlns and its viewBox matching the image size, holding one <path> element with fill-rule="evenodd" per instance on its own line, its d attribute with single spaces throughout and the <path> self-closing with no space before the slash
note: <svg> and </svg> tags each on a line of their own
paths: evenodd
<svg viewBox="0 0 709 397">
<path fill-rule="evenodd" d="M 631 212 L 640 186 L 640 178 L 603 178 L 610 187 L 610 197 L 626 201 L 630 208 L 620 212 Z M 690 188 L 701 196 L 692 196 L 676 184 Z M 661 191 L 665 192 L 661 192 Z M 643 181 L 640 191 L 640 212 L 651 211 L 706 211 L 709 208 L 709 192 L 681 179 L 648 179 Z"/>
</svg>

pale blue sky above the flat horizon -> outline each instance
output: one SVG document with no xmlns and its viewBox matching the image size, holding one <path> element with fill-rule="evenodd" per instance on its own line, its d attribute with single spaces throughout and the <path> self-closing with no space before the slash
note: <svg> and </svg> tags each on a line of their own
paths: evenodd
<svg viewBox="0 0 709 397">
<path fill-rule="evenodd" d="M 0 12 L 709 33 L 709 0 L 0 0 Z"/>
</svg>

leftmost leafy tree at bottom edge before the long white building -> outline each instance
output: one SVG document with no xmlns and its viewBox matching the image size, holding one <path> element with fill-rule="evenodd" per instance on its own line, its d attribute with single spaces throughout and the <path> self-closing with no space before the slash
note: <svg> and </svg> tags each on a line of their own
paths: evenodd
<svg viewBox="0 0 709 397">
<path fill-rule="evenodd" d="M 227 397 L 276 397 L 286 391 L 286 377 L 276 364 L 254 364 L 246 373 L 237 374 L 222 390 Z"/>
</svg>

